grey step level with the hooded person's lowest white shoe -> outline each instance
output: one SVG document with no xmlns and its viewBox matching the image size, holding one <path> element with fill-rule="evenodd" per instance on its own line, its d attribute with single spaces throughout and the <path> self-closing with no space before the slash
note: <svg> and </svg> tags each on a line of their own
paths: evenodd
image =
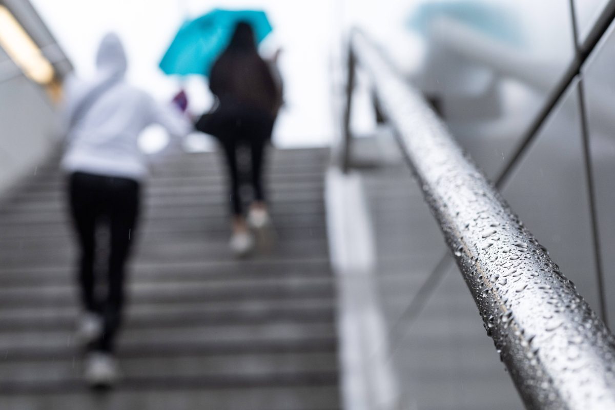
<svg viewBox="0 0 615 410">
<path fill-rule="evenodd" d="M 338 363 L 332 352 L 200 356 L 177 352 L 165 357 L 124 358 L 121 369 L 124 388 L 173 379 L 176 384 L 181 380 L 200 387 L 259 385 L 265 380 L 267 384 L 320 385 L 336 381 Z M 82 385 L 81 374 L 78 359 L 0 362 L 0 394 L 73 390 Z"/>
</svg>

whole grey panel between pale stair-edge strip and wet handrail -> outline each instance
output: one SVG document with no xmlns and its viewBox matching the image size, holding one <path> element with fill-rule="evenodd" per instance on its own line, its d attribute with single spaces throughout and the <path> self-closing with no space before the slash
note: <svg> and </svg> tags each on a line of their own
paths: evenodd
<svg viewBox="0 0 615 410">
<path fill-rule="evenodd" d="M 371 146 L 365 138 L 353 148 L 357 160 L 391 153 L 361 175 L 376 257 L 374 299 L 386 328 L 384 356 L 395 376 L 399 408 L 522 409 L 461 273 L 451 262 L 434 275 L 448 254 L 442 233 L 399 150 L 392 141 L 387 146 L 382 131 Z"/>
</svg>

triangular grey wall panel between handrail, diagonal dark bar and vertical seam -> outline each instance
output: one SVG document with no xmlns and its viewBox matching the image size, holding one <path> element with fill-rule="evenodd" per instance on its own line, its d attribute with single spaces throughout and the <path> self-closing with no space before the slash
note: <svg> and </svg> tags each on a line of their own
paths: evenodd
<svg viewBox="0 0 615 410">
<path fill-rule="evenodd" d="M 503 194 L 561 272 L 600 312 L 576 82 L 519 160 Z"/>
</svg>

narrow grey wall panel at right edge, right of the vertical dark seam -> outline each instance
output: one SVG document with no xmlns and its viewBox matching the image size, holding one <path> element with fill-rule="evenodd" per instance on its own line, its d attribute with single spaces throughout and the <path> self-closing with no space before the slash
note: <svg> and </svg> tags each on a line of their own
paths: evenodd
<svg viewBox="0 0 615 410">
<path fill-rule="evenodd" d="M 607 315 L 615 328 L 615 26 L 583 69 Z"/>
</svg>

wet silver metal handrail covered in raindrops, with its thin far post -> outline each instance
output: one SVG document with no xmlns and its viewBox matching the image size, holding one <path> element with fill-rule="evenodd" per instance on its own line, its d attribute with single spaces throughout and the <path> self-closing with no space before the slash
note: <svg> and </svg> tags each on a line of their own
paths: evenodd
<svg viewBox="0 0 615 410">
<path fill-rule="evenodd" d="M 424 197 L 528 409 L 615 409 L 615 337 L 464 154 L 421 93 L 359 30 L 349 47 L 370 77 Z M 351 143 L 350 95 L 344 143 Z M 343 152 L 349 153 L 349 146 Z M 343 168 L 349 167 L 349 154 Z"/>
</svg>

